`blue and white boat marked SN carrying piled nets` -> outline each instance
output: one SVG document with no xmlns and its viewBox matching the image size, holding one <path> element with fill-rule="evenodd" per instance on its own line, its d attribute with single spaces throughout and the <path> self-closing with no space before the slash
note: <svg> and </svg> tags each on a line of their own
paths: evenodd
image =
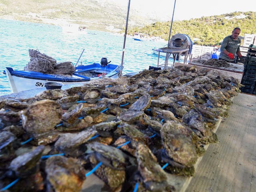
<svg viewBox="0 0 256 192">
<path fill-rule="evenodd" d="M 79 65 L 75 68 L 75 72 L 70 76 L 59 74 L 43 74 L 35 71 L 13 70 L 6 67 L 4 74 L 9 81 L 13 93 L 42 88 L 46 82 L 56 82 L 62 85 L 88 82 L 94 79 L 118 78 L 120 74 L 120 66 L 114 64 L 94 63 L 90 65 Z"/>
</svg>

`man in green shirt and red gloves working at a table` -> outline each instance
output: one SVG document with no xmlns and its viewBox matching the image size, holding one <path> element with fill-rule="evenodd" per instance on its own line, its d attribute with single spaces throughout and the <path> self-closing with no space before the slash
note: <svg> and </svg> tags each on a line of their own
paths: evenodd
<svg viewBox="0 0 256 192">
<path fill-rule="evenodd" d="M 232 31 L 232 35 L 226 36 L 223 39 L 220 47 L 219 60 L 226 60 L 227 62 L 234 63 L 236 54 L 238 58 L 242 57 L 242 54 L 240 52 L 241 40 L 238 38 L 240 32 L 241 32 L 240 28 L 236 27 Z M 241 58 L 241 60 L 242 59 L 243 58 Z"/>
</svg>

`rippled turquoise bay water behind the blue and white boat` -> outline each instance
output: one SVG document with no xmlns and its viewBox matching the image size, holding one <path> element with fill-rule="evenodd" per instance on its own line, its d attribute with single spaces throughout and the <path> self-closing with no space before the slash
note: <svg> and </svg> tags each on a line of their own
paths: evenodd
<svg viewBox="0 0 256 192">
<path fill-rule="evenodd" d="M 74 64 L 85 49 L 79 64 L 99 63 L 102 57 L 108 58 L 112 64 L 121 64 L 124 37 L 89 30 L 88 34 L 68 34 L 63 33 L 60 26 L 0 20 L 0 43 L 0 95 L 6 95 L 12 90 L 2 72 L 5 67 L 23 70 L 30 61 L 29 49 L 38 49 L 57 62 L 71 61 Z M 158 57 L 151 49 L 164 47 L 165 44 L 135 41 L 127 37 L 122 74 L 157 66 Z M 160 58 L 160 63 L 164 63 L 164 58 Z"/>
</svg>

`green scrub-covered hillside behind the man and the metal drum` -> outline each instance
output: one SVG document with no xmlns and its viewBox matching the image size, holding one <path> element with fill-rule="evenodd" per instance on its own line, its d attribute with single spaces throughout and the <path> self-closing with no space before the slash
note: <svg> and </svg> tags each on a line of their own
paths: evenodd
<svg viewBox="0 0 256 192">
<path fill-rule="evenodd" d="M 129 34 L 141 32 L 150 36 L 160 36 L 168 40 L 171 22 L 156 22 L 128 30 Z M 171 36 L 187 34 L 194 44 L 219 45 L 225 36 L 231 35 L 235 27 L 241 28 L 240 36 L 256 34 L 256 12 L 233 12 L 230 14 L 174 21 Z"/>
</svg>

